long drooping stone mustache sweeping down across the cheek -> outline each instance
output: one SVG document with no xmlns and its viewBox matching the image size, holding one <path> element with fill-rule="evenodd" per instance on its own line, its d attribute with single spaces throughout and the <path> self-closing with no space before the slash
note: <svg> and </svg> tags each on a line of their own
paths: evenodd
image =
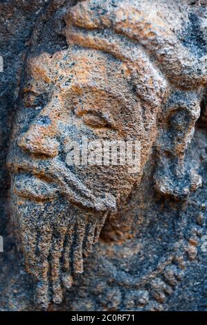
<svg viewBox="0 0 207 325">
<path fill-rule="evenodd" d="M 116 210 L 116 198 L 112 194 L 105 194 L 105 198 L 96 197 L 58 158 L 42 162 L 37 159 L 30 161 L 30 158 L 22 160 L 12 157 L 12 160 L 8 158 L 7 166 L 12 174 L 23 171 L 54 181 L 60 193 L 72 203 L 97 212 Z"/>
</svg>

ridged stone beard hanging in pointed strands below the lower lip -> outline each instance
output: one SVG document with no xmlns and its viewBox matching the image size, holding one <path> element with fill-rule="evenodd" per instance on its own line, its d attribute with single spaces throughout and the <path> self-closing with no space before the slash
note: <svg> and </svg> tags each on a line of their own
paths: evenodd
<svg viewBox="0 0 207 325">
<path fill-rule="evenodd" d="M 15 178 L 15 176 L 13 176 Z M 12 216 L 27 272 L 35 281 L 35 302 L 46 309 L 62 301 L 64 288 L 83 272 L 83 257 L 100 235 L 107 212 L 84 210 L 63 196 L 51 201 L 19 198 L 12 180 Z"/>
</svg>

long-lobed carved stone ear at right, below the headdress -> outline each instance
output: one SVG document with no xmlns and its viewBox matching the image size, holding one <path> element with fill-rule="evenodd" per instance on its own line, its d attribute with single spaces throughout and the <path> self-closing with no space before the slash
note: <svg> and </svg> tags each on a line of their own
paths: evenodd
<svg viewBox="0 0 207 325">
<path fill-rule="evenodd" d="M 165 105 L 156 143 L 155 187 L 161 194 L 177 199 L 188 196 L 201 185 L 201 176 L 185 166 L 185 154 L 199 118 L 199 96 L 176 91 Z"/>
</svg>

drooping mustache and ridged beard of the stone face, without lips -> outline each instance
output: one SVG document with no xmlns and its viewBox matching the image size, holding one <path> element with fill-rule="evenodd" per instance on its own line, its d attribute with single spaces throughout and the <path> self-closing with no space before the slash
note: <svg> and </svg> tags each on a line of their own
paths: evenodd
<svg viewBox="0 0 207 325">
<path fill-rule="evenodd" d="M 69 201 L 68 206 L 64 205 L 62 210 L 54 213 L 54 209 L 59 209 L 56 199 L 43 204 L 28 197 L 19 203 L 19 197 L 12 189 L 13 221 L 24 252 L 26 270 L 35 282 L 35 304 L 45 310 L 51 302 L 61 303 L 65 288 L 71 288 L 73 277 L 83 272 L 84 257 L 91 254 L 93 243 L 98 241 L 116 201 L 111 195 L 105 198 L 94 196 L 57 159 L 46 163 L 12 156 L 12 160 L 8 158 L 8 168 L 12 178 L 23 172 L 55 181 Z"/>
</svg>

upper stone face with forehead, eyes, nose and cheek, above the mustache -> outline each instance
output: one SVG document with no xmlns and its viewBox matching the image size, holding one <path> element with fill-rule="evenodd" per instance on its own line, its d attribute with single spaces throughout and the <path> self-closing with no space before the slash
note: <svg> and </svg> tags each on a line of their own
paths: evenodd
<svg viewBox="0 0 207 325">
<path fill-rule="evenodd" d="M 65 176 L 72 171 L 98 196 L 109 192 L 127 197 L 141 172 L 132 174 L 129 166 L 104 163 L 66 164 L 70 144 L 81 147 L 83 137 L 89 143 L 133 140 L 141 142 L 143 169 L 156 136 L 157 111 L 147 109 L 138 98 L 127 64 L 98 50 L 72 47 L 30 58 L 26 73 L 14 133 L 19 169 L 27 169 L 23 162 L 28 160 L 33 165 L 40 161 L 43 167 L 37 176 L 46 176 L 48 163 L 58 174 L 58 162 L 64 165 Z"/>
</svg>

